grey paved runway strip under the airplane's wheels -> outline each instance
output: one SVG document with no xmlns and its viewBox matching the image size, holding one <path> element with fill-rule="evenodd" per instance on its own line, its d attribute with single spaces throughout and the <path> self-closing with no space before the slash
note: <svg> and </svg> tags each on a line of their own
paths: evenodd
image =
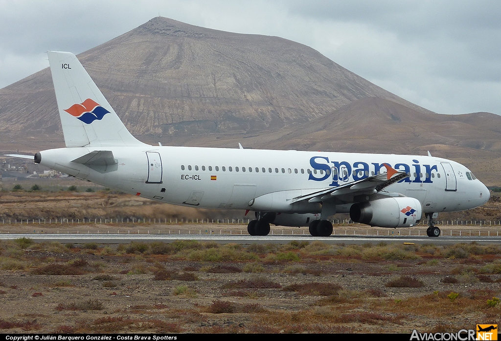
<svg viewBox="0 0 501 341">
<path fill-rule="evenodd" d="M 2 233 L 0 239 L 9 240 L 17 238 L 30 238 L 36 242 L 58 241 L 61 243 L 86 243 L 97 242 L 104 244 L 130 243 L 131 241 L 163 241 L 172 242 L 175 240 L 199 240 L 214 241 L 218 243 L 278 243 L 286 244 L 292 240 L 313 242 L 319 240 L 328 244 L 363 244 L 363 243 L 404 243 L 413 242 L 417 244 L 431 243 L 436 245 L 450 245 L 456 243 L 477 242 L 479 244 L 501 243 L 501 236 L 447 236 L 442 235 L 436 238 L 419 235 L 407 236 L 382 236 L 382 235 L 331 235 L 328 237 L 314 237 L 311 235 L 267 235 L 250 236 L 245 234 L 38 234 L 38 233 Z"/>
</svg>

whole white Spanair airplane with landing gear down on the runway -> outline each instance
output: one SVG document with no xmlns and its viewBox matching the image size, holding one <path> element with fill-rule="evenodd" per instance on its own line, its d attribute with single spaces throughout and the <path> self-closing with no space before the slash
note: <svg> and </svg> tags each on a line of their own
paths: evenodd
<svg viewBox="0 0 501 341">
<path fill-rule="evenodd" d="M 490 193 L 464 165 L 422 155 L 149 145 L 127 130 L 70 52 L 48 51 L 65 148 L 36 163 L 133 195 L 176 205 L 245 209 L 250 235 L 270 223 L 329 236 L 329 218 L 349 213 L 380 227 L 415 226 L 437 237 L 439 212 L 471 209 Z"/>
</svg>

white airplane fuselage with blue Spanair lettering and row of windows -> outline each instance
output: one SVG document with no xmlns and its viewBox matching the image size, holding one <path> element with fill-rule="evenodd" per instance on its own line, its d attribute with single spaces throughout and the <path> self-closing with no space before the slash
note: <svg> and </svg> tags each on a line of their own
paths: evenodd
<svg viewBox="0 0 501 341">
<path fill-rule="evenodd" d="M 93 150 L 111 150 L 118 163 L 87 166 L 71 161 Z M 318 213 L 319 205 L 288 206 L 287 200 L 384 172 L 383 163 L 410 174 L 385 190 L 418 199 L 424 213 L 470 209 L 489 198 L 488 189 L 469 179 L 465 166 L 433 156 L 147 145 L 70 147 L 44 150 L 41 155 L 41 164 L 77 178 L 203 208 Z M 283 192 L 283 202 L 275 199 L 277 205 L 271 207 L 249 205 L 272 192 Z M 337 212 L 349 211 L 352 199 L 341 196 Z"/>
</svg>

